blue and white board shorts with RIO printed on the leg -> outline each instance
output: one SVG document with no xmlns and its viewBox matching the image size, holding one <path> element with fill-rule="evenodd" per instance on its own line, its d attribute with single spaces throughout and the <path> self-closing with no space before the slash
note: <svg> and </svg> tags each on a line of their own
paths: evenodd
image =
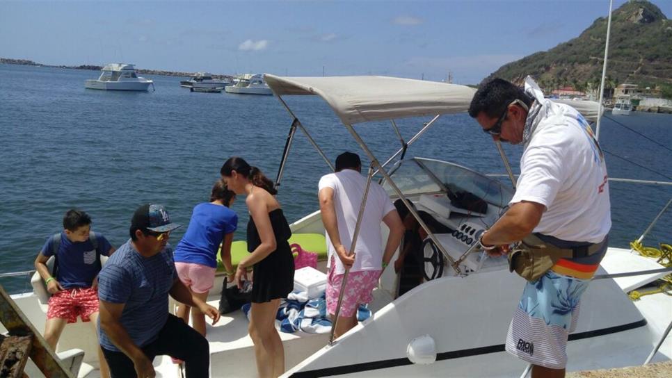
<svg viewBox="0 0 672 378">
<path fill-rule="evenodd" d="M 533 365 L 564 369 L 567 338 L 576 328 L 579 301 L 589 279 L 546 272 L 528 282 L 506 337 L 506 352 Z"/>
</svg>

